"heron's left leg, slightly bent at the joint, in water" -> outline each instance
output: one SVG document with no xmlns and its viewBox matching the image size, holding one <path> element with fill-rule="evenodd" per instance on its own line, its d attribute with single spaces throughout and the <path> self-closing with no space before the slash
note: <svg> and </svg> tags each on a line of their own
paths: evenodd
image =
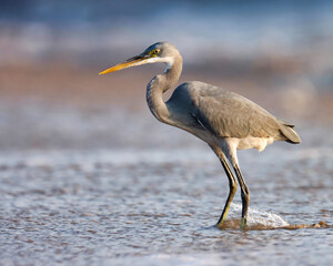
<svg viewBox="0 0 333 266">
<path fill-rule="evenodd" d="M 223 212 L 221 214 L 221 217 L 216 224 L 216 227 L 221 228 L 223 222 L 225 221 L 226 218 L 226 215 L 228 215 L 228 212 L 229 212 L 229 208 L 231 206 L 231 202 L 233 200 L 233 196 L 236 192 L 236 188 L 238 188 L 238 183 L 236 183 L 236 180 L 235 177 L 233 176 L 229 165 L 228 165 L 228 162 L 226 162 L 226 158 L 223 154 L 223 152 L 220 150 L 220 149 L 215 149 L 215 147 L 212 147 L 213 151 L 215 152 L 215 154 L 218 155 L 218 157 L 220 158 L 220 162 L 225 171 L 225 174 L 228 176 L 228 180 L 229 180 L 229 195 L 228 195 L 228 198 L 226 198 L 226 202 L 225 202 L 225 205 L 224 205 L 224 208 L 223 208 Z"/>
</svg>

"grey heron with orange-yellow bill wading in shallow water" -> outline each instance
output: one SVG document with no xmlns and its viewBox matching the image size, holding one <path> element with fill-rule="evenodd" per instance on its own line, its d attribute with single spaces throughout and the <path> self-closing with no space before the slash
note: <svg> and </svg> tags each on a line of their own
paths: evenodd
<svg viewBox="0 0 333 266">
<path fill-rule="evenodd" d="M 222 227 L 239 183 L 241 229 L 246 229 L 250 191 L 241 173 L 236 151 L 258 149 L 261 152 L 274 141 L 297 144 L 301 139 L 293 130 L 294 125 L 276 119 L 240 94 L 200 81 L 179 85 L 164 102 L 163 93 L 178 82 L 183 65 L 179 50 L 170 42 L 157 42 L 99 74 L 148 63 L 167 64 L 165 71 L 155 75 L 147 86 L 147 103 L 151 113 L 160 122 L 180 127 L 208 143 L 225 171 L 229 195 L 215 226 Z"/>
</svg>

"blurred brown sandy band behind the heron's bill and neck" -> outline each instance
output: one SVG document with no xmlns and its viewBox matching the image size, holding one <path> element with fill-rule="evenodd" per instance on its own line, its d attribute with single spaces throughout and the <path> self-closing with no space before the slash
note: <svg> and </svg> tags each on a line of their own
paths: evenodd
<svg viewBox="0 0 333 266">
<path fill-rule="evenodd" d="M 84 66 L 84 63 L 57 61 L 51 64 L 3 64 L 0 65 L 0 102 L 20 104 L 20 101 L 30 101 L 34 104 L 36 101 L 56 108 L 78 106 L 92 112 L 114 108 L 145 113 L 147 83 L 164 66 L 144 65 L 117 74 L 98 75 L 110 65 L 111 62 L 109 65 Z M 233 68 L 232 73 L 229 73 L 230 68 Z M 333 125 L 332 88 L 314 88 L 311 79 L 304 75 L 305 71 L 304 65 L 292 59 L 264 58 L 234 64 L 222 60 L 212 62 L 212 65 L 185 64 L 179 84 L 191 80 L 203 81 L 240 93 L 285 120 Z M 169 95 L 167 93 L 165 99 Z"/>
</svg>

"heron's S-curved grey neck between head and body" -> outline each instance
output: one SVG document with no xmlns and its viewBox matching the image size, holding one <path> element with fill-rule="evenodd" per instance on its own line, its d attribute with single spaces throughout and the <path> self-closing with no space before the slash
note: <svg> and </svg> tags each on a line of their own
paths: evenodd
<svg viewBox="0 0 333 266">
<path fill-rule="evenodd" d="M 147 86 L 147 103 L 152 114 L 161 122 L 168 123 L 170 111 L 163 101 L 163 93 L 173 86 L 182 72 L 182 58 L 175 58 L 163 74 L 154 76 Z"/>
</svg>

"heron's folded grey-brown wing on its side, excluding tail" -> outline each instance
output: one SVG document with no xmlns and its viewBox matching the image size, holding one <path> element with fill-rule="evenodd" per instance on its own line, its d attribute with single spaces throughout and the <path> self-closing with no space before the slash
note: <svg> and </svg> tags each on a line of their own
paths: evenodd
<svg viewBox="0 0 333 266">
<path fill-rule="evenodd" d="M 212 90 L 214 89 L 214 90 Z M 254 102 L 220 88 L 196 91 L 192 115 L 219 136 L 278 137 L 280 122 Z"/>
</svg>

